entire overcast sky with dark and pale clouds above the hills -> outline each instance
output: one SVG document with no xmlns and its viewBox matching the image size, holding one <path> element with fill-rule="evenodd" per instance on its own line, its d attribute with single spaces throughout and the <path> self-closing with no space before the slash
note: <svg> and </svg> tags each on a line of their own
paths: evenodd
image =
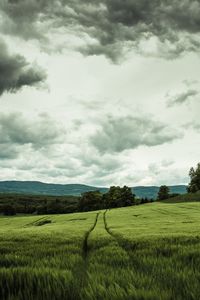
<svg viewBox="0 0 200 300">
<path fill-rule="evenodd" d="M 1 0 L 0 180 L 187 183 L 199 53 L 199 0 Z"/>
</svg>

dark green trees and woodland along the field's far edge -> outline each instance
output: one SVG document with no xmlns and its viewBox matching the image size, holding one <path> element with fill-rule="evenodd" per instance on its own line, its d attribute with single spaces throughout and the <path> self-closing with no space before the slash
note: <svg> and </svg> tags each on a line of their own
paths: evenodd
<svg viewBox="0 0 200 300">
<path fill-rule="evenodd" d="M 200 163 L 189 172 L 190 182 L 188 193 L 200 191 Z M 157 199 L 137 198 L 128 187 L 111 186 L 107 193 L 90 191 L 78 196 L 35 196 L 20 194 L 0 194 L 0 214 L 66 214 L 98 209 L 110 209 L 151 203 L 155 200 L 165 200 L 176 197 L 169 187 L 162 185 Z"/>
</svg>

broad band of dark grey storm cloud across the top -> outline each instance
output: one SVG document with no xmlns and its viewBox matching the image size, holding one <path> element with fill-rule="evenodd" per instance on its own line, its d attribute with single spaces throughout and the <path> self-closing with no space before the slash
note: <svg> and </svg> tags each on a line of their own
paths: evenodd
<svg viewBox="0 0 200 300">
<path fill-rule="evenodd" d="M 45 38 L 47 29 L 59 27 L 86 33 L 95 43 L 79 50 L 114 61 L 125 48 L 137 49 L 151 37 L 158 38 L 160 55 L 166 58 L 200 49 L 196 0 L 4 0 L 0 9 L 4 32 L 26 39 Z"/>
</svg>

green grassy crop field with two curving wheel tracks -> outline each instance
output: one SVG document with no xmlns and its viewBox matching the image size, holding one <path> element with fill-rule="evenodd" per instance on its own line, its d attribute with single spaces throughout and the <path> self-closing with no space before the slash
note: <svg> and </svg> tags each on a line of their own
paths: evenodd
<svg viewBox="0 0 200 300">
<path fill-rule="evenodd" d="M 0 217 L 0 241 L 1 300 L 200 299 L 198 202 Z"/>
</svg>

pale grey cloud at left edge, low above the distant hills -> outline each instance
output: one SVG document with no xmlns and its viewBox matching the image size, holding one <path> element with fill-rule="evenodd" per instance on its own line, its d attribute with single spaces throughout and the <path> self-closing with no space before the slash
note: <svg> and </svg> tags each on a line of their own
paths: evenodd
<svg viewBox="0 0 200 300">
<path fill-rule="evenodd" d="M 29 121 L 20 113 L 0 114 L 0 157 L 17 156 L 22 146 L 30 146 L 33 150 L 42 150 L 59 143 L 64 131 L 48 115 L 39 115 Z M 10 153 L 10 154 L 9 154 Z"/>
</svg>

